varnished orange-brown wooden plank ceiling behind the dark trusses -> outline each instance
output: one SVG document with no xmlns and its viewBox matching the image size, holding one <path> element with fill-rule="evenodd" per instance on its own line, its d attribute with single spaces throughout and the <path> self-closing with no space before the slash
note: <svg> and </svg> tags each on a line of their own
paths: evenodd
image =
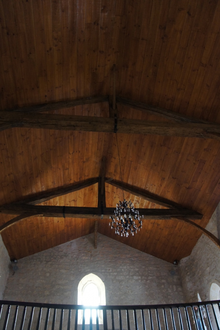
<svg viewBox="0 0 220 330">
<path fill-rule="evenodd" d="M 207 0 L 0 1 L 1 110 L 116 94 L 220 123 L 220 2 Z M 57 114 L 109 116 L 108 103 Z M 118 106 L 120 118 L 165 119 Z M 217 140 L 118 134 L 124 182 L 202 213 L 205 227 L 220 201 Z M 0 132 L 0 204 L 100 175 L 120 180 L 113 133 L 13 128 Z M 97 206 L 98 184 L 45 202 Z M 135 206 L 159 208 L 125 193 Z M 106 183 L 107 207 L 122 199 Z M 0 225 L 14 215 L 0 215 Z M 11 257 L 94 231 L 94 219 L 25 219 L 2 232 Z M 189 255 L 200 233 L 177 220 L 145 220 L 128 239 L 106 220 L 98 232 L 158 258 Z"/>
</svg>

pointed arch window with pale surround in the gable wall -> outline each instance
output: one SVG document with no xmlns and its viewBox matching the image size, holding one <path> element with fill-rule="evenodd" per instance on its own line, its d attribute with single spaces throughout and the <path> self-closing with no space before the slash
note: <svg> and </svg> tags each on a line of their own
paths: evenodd
<svg viewBox="0 0 220 330">
<path fill-rule="evenodd" d="M 106 290 L 104 282 L 95 274 L 88 274 L 78 285 L 78 305 L 106 305 Z M 78 323 L 82 324 L 82 310 L 78 314 Z M 98 311 L 99 324 L 103 324 L 102 311 Z M 85 324 L 89 324 L 90 310 L 85 311 Z M 92 311 L 92 323 L 96 324 L 96 310 Z"/>
</svg>

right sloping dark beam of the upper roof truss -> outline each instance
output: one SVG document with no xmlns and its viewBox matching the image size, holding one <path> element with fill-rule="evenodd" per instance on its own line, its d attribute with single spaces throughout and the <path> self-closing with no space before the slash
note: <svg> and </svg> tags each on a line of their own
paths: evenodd
<svg viewBox="0 0 220 330">
<path fill-rule="evenodd" d="M 185 115 L 179 114 L 178 112 L 175 112 L 175 111 L 166 110 L 166 109 L 159 108 L 159 107 L 154 107 L 154 106 L 148 105 L 143 102 L 127 99 L 125 97 L 116 96 L 116 102 L 118 104 L 125 105 L 129 108 L 144 111 L 150 115 L 160 116 L 160 117 L 163 117 L 163 118 L 166 118 L 169 120 L 173 120 L 176 122 L 214 124 L 213 122 L 210 122 L 207 120 L 194 118 L 194 117 L 190 117 L 190 116 L 185 116 Z"/>
</svg>

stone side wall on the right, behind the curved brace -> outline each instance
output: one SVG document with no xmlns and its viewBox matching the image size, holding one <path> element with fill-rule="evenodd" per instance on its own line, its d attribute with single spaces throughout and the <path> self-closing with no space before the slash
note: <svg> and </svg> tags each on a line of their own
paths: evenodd
<svg viewBox="0 0 220 330">
<path fill-rule="evenodd" d="M 218 238 L 219 228 L 220 203 L 206 226 Z M 180 260 L 179 270 L 187 301 L 198 301 L 197 291 L 202 301 L 209 300 L 211 283 L 220 282 L 220 249 L 202 235 L 191 255 Z"/>
</svg>

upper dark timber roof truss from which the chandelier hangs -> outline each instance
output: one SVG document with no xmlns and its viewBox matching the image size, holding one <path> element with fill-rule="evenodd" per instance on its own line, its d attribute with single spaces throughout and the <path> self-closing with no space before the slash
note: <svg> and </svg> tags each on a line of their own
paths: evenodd
<svg viewBox="0 0 220 330">
<path fill-rule="evenodd" d="M 76 100 L 39 104 L 30 107 L 9 109 L 0 112 L 0 131 L 12 127 L 42 128 L 56 130 L 78 130 L 91 132 L 114 132 L 117 114 L 117 102 L 125 106 L 162 116 L 171 122 L 154 122 L 134 119 L 117 119 L 118 133 L 156 134 L 162 136 L 182 136 L 211 138 L 220 141 L 220 125 L 198 118 L 184 116 L 173 111 L 149 106 L 130 99 L 109 96 L 81 98 Z M 50 110 L 59 110 L 76 105 L 109 101 L 110 117 L 67 116 L 57 114 L 39 114 Z M 115 103 L 116 102 L 116 103 Z"/>
</svg>

